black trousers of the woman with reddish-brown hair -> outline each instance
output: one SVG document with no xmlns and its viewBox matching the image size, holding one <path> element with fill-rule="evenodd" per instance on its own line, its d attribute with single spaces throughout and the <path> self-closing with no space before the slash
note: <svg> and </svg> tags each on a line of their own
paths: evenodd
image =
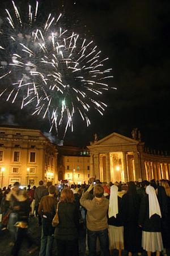
<svg viewBox="0 0 170 256">
<path fill-rule="evenodd" d="M 57 256 L 78 256 L 78 240 L 57 239 Z"/>
</svg>

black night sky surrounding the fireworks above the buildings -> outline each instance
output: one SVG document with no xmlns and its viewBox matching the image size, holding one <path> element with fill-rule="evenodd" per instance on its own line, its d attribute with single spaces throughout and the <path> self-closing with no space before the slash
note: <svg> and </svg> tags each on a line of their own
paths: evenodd
<svg viewBox="0 0 170 256">
<path fill-rule="evenodd" d="M 10 1 L 3 0 L 3 6 Z M 16 3 L 24 1 L 15 1 Z M 33 1 L 29 1 L 33 2 Z M 117 87 L 104 95 L 108 108 L 101 117 L 91 113 L 91 126 L 74 122 L 74 133 L 66 143 L 88 144 L 93 134 L 103 138 L 117 132 L 131 137 L 133 127 L 141 131 L 146 146 L 170 150 L 169 121 L 169 0 L 43 0 L 42 14 L 58 12 L 64 4 L 66 24 L 94 40 L 113 69 L 110 85 Z M 68 22 L 69 21 L 69 22 Z M 1 81 L 0 81 L 1 83 Z M 31 117 L 2 98 L 0 123 L 16 123 L 48 130 L 48 122 Z"/>
</svg>

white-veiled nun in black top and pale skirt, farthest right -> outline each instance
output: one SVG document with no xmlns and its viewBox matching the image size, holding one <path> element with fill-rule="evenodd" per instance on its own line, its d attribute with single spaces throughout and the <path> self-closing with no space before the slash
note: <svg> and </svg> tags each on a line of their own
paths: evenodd
<svg viewBox="0 0 170 256">
<path fill-rule="evenodd" d="M 155 189 L 151 185 L 146 187 L 146 196 L 142 198 L 139 212 L 139 226 L 142 227 L 142 247 L 147 255 L 156 251 L 156 256 L 163 250 L 161 234 L 162 214 Z"/>
</svg>

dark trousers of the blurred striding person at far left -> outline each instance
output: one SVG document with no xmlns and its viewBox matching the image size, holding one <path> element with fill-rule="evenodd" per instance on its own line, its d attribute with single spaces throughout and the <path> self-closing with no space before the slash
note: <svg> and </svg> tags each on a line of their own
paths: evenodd
<svg viewBox="0 0 170 256">
<path fill-rule="evenodd" d="M 20 246 L 22 245 L 22 242 L 24 239 L 27 241 L 28 247 L 31 247 L 31 245 L 35 244 L 33 239 L 28 235 L 27 230 L 28 230 L 27 228 L 25 229 L 18 228 L 18 231 L 16 233 L 16 241 L 11 251 L 12 255 L 18 256 Z"/>
</svg>

